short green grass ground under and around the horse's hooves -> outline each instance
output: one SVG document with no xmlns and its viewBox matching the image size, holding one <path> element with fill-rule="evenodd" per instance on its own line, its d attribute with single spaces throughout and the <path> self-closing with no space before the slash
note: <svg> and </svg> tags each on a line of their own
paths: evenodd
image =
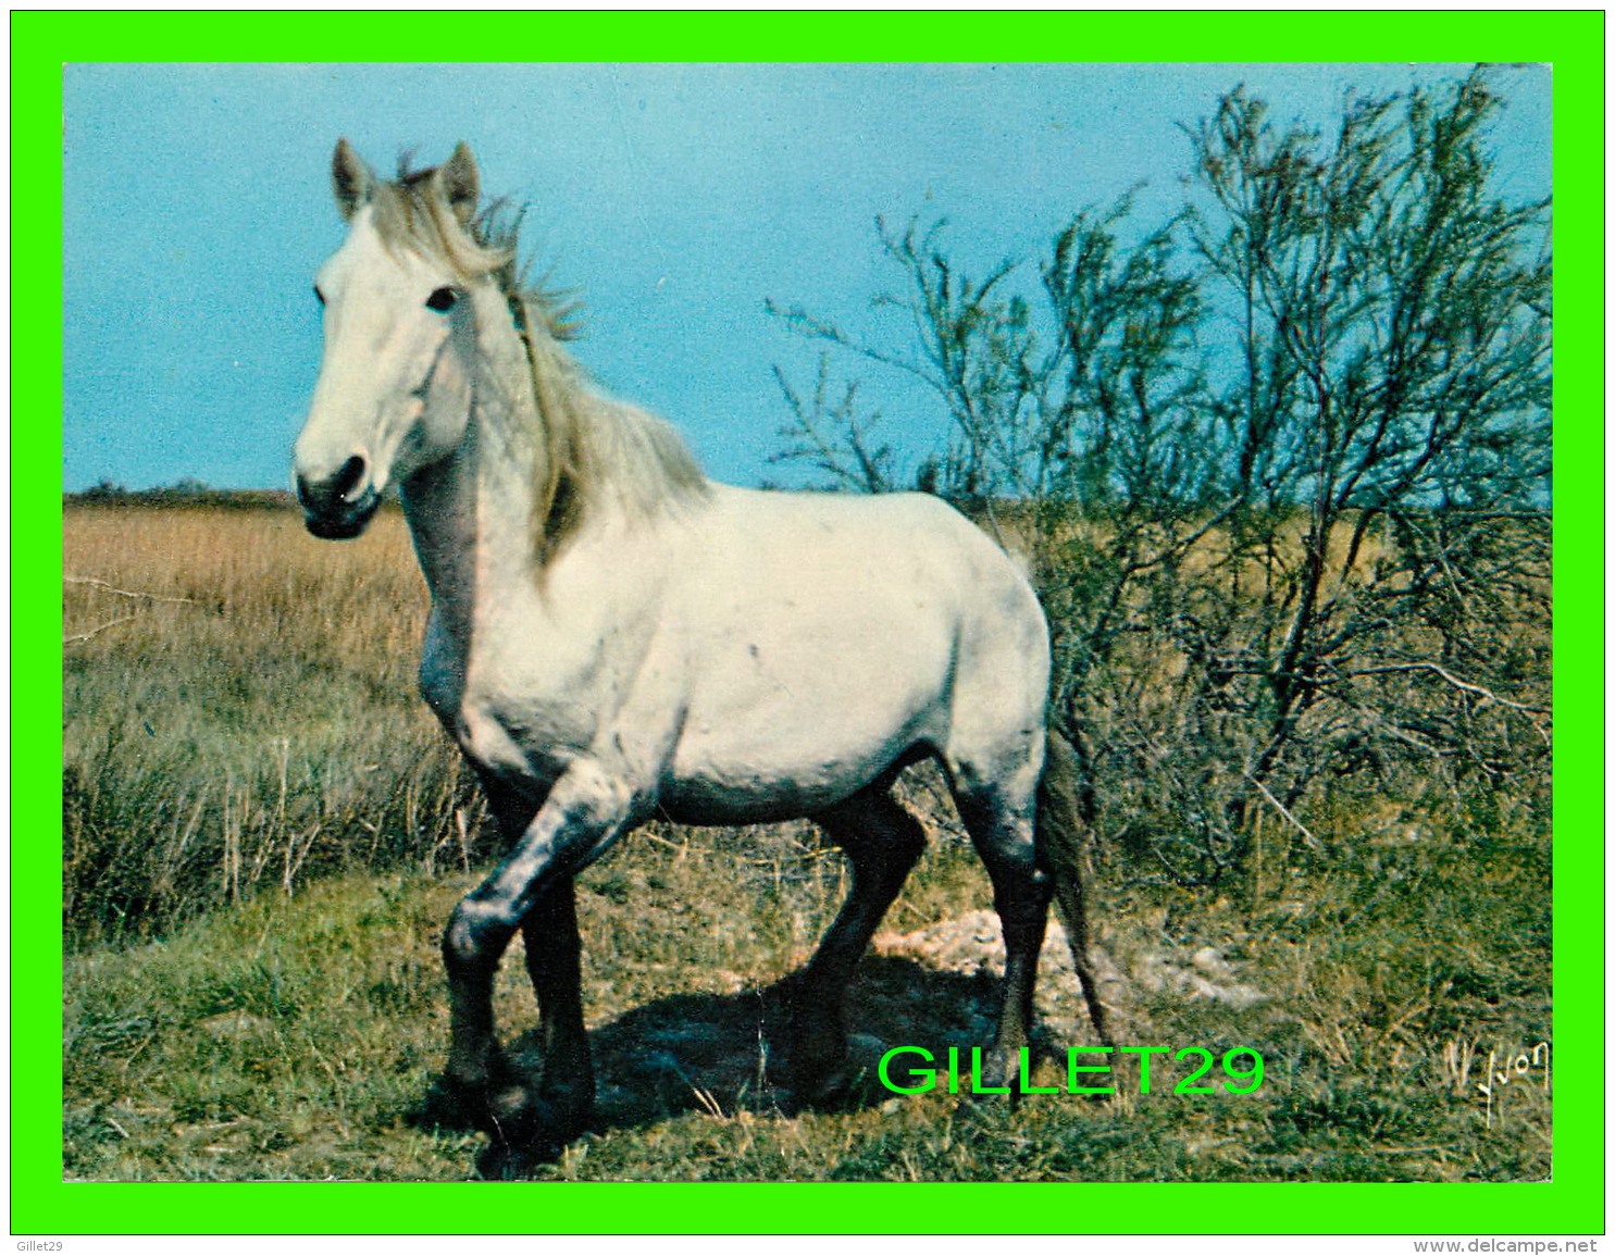
<svg viewBox="0 0 1615 1256">
<path fill-rule="evenodd" d="M 772 846 L 761 856 L 745 838 Z M 580 891 L 599 1128 L 541 1179 L 578 1180 L 1521 1180 L 1550 1174 L 1533 1074 L 1487 1127 L 1487 1051 L 1547 1038 L 1546 867 L 1528 848 L 1474 872 L 1462 841 L 1373 852 L 1297 878 L 1261 911 L 1121 896 L 1101 946 L 1129 973 L 1124 1043 L 1235 1046 L 1256 1093 L 1114 1099 L 898 1096 L 866 1077 L 848 1111 L 787 1116 L 774 983 L 828 922 L 838 860 L 790 833 L 628 839 Z M 748 859 L 749 862 L 740 862 Z M 1365 894 L 1376 878 L 1384 893 Z M 509 1167 L 481 1135 L 433 1127 L 423 1099 L 447 1035 L 438 935 L 472 878 L 347 875 L 213 912 L 165 941 L 90 951 L 66 982 L 69 1179 L 454 1180 Z M 1521 894 L 1536 883 L 1542 893 Z M 942 838 L 890 922 L 985 904 L 974 859 Z M 1305 906 L 1302 906 L 1305 904 Z M 1150 957 L 1216 948 L 1266 994 L 1234 1007 L 1150 988 Z M 1160 964 L 1156 964 L 1160 969 Z M 1076 991 L 1047 982 L 1045 1062 L 1089 1045 Z M 517 956 L 497 1006 L 518 1059 L 533 1011 Z M 895 954 L 864 962 L 854 1056 L 985 1043 L 995 983 Z M 1056 1057 L 1056 1059 L 1047 1059 Z M 1092 1059 L 1092 1057 L 1084 1057 Z M 1468 1067 L 1465 1070 L 1465 1059 Z M 1213 1074 L 1216 1077 L 1218 1074 Z M 1122 1090 L 1135 1075 L 1118 1074 Z M 1206 1078 L 1202 1078 L 1205 1082 Z"/>
</svg>

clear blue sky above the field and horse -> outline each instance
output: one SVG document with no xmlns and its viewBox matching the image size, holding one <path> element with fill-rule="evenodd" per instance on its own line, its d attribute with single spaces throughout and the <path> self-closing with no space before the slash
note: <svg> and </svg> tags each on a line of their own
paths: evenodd
<svg viewBox="0 0 1615 1256">
<path fill-rule="evenodd" d="M 338 136 L 381 173 L 472 144 L 486 192 L 530 207 L 541 270 L 577 287 L 578 357 L 667 415 L 707 470 L 767 465 L 817 350 L 764 302 L 891 342 L 874 220 L 946 216 L 979 273 L 1032 257 L 1084 205 L 1181 195 L 1177 123 L 1239 82 L 1326 121 L 1347 84 L 1392 92 L 1463 66 L 71 65 L 65 71 L 65 488 L 197 478 L 284 486 L 320 362 L 310 283 L 342 239 Z M 1542 68 L 1499 71 L 1504 190 L 1546 195 Z M 935 415 L 875 368 L 888 439 Z"/>
</svg>

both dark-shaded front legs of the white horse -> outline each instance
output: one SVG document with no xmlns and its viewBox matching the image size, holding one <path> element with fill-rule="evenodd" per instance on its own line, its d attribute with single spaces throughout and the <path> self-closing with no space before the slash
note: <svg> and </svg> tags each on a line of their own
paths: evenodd
<svg viewBox="0 0 1615 1256">
<path fill-rule="evenodd" d="M 567 1140 L 588 1119 L 594 1078 L 583 1038 L 578 990 L 577 917 L 572 878 L 594 862 L 628 827 L 633 791 L 589 762 L 573 764 L 551 788 L 510 856 L 460 899 L 443 935 L 449 973 L 449 1064 L 446 1082 L 493 1132 L 507 1141 Z M 505 1066 L 494 1033 L 493 983 L 517 928 L 531 917 L 530 946 L 559 954 L 530 970 L 539 985 L 546 1022 L 546 1096 L 535 1099 Z M 557 932 L 557 923 L 565 925 Z M 547 928 L 546 928 L 547 925 Z M 570 954 L 570 959 L 568 959 Z M 480 1109 L 480 1111 L 476 1111 Z"/>
</svg>

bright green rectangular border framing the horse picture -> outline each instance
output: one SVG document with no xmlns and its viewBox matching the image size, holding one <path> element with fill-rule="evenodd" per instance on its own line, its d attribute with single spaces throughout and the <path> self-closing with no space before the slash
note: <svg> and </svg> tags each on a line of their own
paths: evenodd
<svg viewBox="0 0 1615 1256">
<path fill-rule="evenodd" d="M 1602 1233 L 1602 221 L 1604 13 L 522 13 L 497 15 L 499 48 L 575 60 L 1071 60 L 1151 61 L 1550 61 L 1560 310 L 1555 402 L 1555 652 L 1573 683 L 1555 685 L 1555 1156 L 1539 1185 L 535 1185 L 541 1208 L 473 1208 L 476 1183 L 82 1183 L 61 1182 L 61 965 L 27 962 L 60 936 L 60 743 L 19 736 L 11 781 L 11 1232 L 441 1233 L 520 1232 L 1116 1232 L 1307 1233 L 1357 1224 L 1376 1233 Z M 13 252 L 11 701 L 29 728 L 60 715 L 61 630 L 53 546 L 19 544 L 39 520 L 60 530 L 47 465 L 60 465 L 61 413 L 61 65 L 63 61 L 367 61 L 486 58 L 486 42 L 423 15 L 78 13 L 11 15 L 11 213 L 40 224 Z M 45 308 L 40 308 L 45 307 Z M 21 307 L 18 307 L 21 308 Z M 24 471 L 19 475 L 19 470 Z M 24 531 L 26 530 L 26 531 Z M 50 607 L 24 594 L 44 597 Z M 19 613 L 19 607 L 29 607 Z M 1560 673 L 1563 676 L 1563 672 Z M 50 841 L 32 839 L 50 835 Z M 55 954 L 55 952 L 53 952 Z M 1169 1191 L 1166 1199 L 1153 1191 Z M 811 1198 L 809 1198 L 811 1196 Z M 538 1204 L 538 1201 L 533 1201 Z"/>
</svg>

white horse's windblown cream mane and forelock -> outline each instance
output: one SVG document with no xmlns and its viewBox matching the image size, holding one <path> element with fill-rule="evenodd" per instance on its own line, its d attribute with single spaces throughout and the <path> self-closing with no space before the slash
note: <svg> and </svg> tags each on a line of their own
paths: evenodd
<svg viewBox="0 0 1615 1256">
<path fill-rule="evenodd" d="M 704 497 L 709 481 L 665 420 L 594 389 L 565 349 L 580 333 L 578 302 L 530 284 L 520 263 L 522 215 L 493 202 L 462 223 L 438 192 L 436 168 L 405 157 L 394 182 L 378 181 L 370 203 L 389 247 L 443 260 L 462 279 L 491 276 L 526 349 L 539 431 L 533 526 L 539 559 L 552 555 L 607 500 L 651 515 Z"/>
</svg>

